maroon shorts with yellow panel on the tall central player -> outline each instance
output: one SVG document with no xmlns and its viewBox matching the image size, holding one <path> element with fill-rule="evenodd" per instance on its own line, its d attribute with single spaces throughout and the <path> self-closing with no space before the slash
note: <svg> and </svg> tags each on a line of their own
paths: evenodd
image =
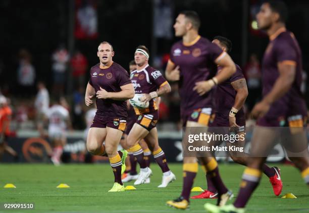
<svg viewBox="0 0 309 213">
<path fill-rule="evenodd" d="M 193 111 L 183 112 L 181 115 L 182 126 L 185 127 L 187 121 L 197 122 L 208 126 L 212 115 L 212 108 L 199 108 Z"/>
</svg>

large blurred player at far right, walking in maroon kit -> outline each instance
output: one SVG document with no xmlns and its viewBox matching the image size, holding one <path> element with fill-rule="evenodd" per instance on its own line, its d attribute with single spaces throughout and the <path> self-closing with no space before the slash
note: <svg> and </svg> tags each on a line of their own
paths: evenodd
<svg viewBox="0 0 309 213">
<path fill-rule="evenodd" d="M 258 126 L 252 135 L 251 157 L 243 173 L 235 202 L 220 208 L 207 203 L 204 207 L 209 212 L 245 211 L 246 203 L 260 183 L 267 151 L 272 149 L 279 134 L 285 133 L 280 131 L 282 128 L 279 130 L 271 127 L 289 126 L 291 140 L 285 144 L 289 145 L 285 147 L 287 154 L 300 171 L 304 182 L 309 185 L 307 139 L 303 129 L 306 105 L 300 92 L 301 51 L 293 33 L 285 28 L 287 7 L 283 2 L 267 1 L 256 18 L 259 28 L 269 35 L 270 42 L 262 64 L 263 99 L 252 110 L 252 116 L 258 118 Z"/>
</svg>

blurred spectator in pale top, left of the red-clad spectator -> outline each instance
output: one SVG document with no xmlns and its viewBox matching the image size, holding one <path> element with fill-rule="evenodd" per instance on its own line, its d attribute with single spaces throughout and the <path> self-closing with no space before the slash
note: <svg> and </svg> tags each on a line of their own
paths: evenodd
<svg viewBox="0 0 309 213">
<path fill-rule="evenodd" d="M 57 95 L 62 95 L 65 89 L 67 63 L 69 61 L 69 53 L 67 49 L 61 45 L 53 54 L 53 74 L 54 74 L 54 89 L 53 92 Z"/>
</svg>

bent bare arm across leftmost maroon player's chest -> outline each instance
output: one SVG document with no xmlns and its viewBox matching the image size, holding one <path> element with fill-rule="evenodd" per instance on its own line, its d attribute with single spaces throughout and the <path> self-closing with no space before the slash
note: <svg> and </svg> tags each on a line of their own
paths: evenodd
<svg viewBox="0 0 309 213">
<path fill-rule="evenodd" d="M 114 100 L 127 100 L 134 97 L 135 91 L 133 84 L 125 84 L 120 87 L 120 92 L 107 92 L 100 87 L 100 90 L 96 92 L 96 97 L 100 99 L 114 99 Z"/>
</svg>

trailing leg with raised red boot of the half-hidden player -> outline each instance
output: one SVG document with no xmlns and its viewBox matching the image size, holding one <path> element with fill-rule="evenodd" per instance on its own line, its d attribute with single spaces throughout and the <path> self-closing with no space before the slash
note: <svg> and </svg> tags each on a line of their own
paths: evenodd
<svg viewBox="0 0 309 213">
<path fill-rule="evenodd" d="M 243 127 L 244 128 L 244 127 Z M 234 143 L 227 142 L 229 148 L 229 155 L 232 160 L 240 165 L 247 166 L 249 155 L 245 152 L 239 152 L 237 148 L 244 148 L 245 146 L 245 132 L 241 131 L 243 129 L 239 127 L 237 134 L 239 135 L 239 140 L 235 141 Z M 279 196 L 282 192 L 282 180 L 280 177 L 280 169 L 278 167 L 270 168 L 266 164 L 262 166 L 263 173 L 269 178 L 270 183 L 272 184 L 273 191 L 276 196 Z"/>
</svg>

